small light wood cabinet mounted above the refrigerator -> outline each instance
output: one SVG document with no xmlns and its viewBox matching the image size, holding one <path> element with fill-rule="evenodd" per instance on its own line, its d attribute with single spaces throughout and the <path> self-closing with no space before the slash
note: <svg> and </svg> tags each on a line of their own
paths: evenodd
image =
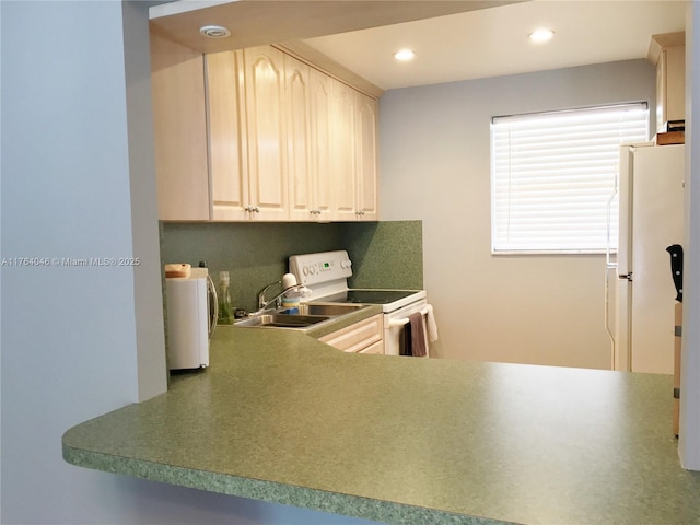
<svg viewBox="0 0 700 525">
<path fill-rule="evenodd" d="M 656 130 L 686 119 L 685 33 L 654 35 L 648 58 L 656 65 Z"/>
</svg>

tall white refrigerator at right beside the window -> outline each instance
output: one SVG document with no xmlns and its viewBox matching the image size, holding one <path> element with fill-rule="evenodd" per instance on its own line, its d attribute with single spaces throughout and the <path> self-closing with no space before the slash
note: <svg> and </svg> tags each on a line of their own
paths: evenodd
<svg viewBox="0 0 700 525">
<path fill-rule="evenodd" d="M 684 241 L 684 167 L 682 144 L 621 148 L 619 249 L 608 264 L 617 279 L 606 298 L 615 370 L 674 372 L 676 288 L 666 248 Z"/>
</svg>

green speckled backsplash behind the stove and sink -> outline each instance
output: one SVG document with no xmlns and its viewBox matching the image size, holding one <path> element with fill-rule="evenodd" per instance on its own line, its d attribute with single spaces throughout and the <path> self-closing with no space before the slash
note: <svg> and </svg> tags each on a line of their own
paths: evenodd
<svg viewBox="0 0 700 525">
<path fill-rule="evenodd" d="M 288 271 L 290 255 L 347 249 L 351 285 L 421 289 L 422 222 L 361 223 L 161 223 L 162 262 L 206 260 L 219 285 L 231 275 L 235 307 L 257 307 L 258 292 Z"/>
</svg>

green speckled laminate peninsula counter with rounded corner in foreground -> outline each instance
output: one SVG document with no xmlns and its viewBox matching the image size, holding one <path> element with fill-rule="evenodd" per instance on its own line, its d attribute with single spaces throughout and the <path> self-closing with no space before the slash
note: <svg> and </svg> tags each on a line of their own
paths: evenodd
<svg viewBox="0 0 700 525">
<path fill-rule="evenodd" d="M 221 327 L 208 370 L 70 429 L 67 462 L 400 524 L 700 523 L 670 376 L 362 355 Z"/>
</svg>

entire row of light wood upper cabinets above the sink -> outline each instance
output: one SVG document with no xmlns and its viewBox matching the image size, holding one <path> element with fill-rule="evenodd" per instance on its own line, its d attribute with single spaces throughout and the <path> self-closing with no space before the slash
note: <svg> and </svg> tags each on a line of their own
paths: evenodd
<svg viewBox="0 0 700 525">
<path fill-rule="evenodd" d="M 376 98 L 273 46 L 152 65 L 160 219 L 377 219 Z"/>
</svg>

